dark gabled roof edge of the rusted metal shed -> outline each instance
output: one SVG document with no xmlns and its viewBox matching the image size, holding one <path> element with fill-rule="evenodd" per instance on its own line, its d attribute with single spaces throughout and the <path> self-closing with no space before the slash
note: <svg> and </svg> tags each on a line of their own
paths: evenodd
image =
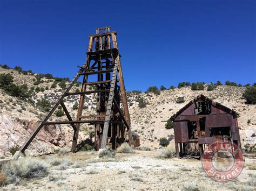
<svg viewBox="0 0 256 191">
<path fill-rule="evenodd" d="M 174 114 L 173 116 L 170 117 L 169 120 L 174 121 L 174 119 L 176 117 L 178 117 L 183 111 L 185 111 L 188 107 L 190 107 L 190 105 L 192 105 L 194 102 L 197 102 L 198 100 L 207 100 L 210 101 L 211 104 L 213 105 L 213 107 L 221 109 L 223 111 L 225 111 L 228 114 L 231 114 L 235 117 L 239 117 L 239 113 L 235 112 L 233 109 L 227 108 L 225 105 L 222 105 L 218 102 L 214 102 L 212 99 L 210 99 L 209 97 L 206 97 L 205 95 L 201 94 L 198 95 L 197 97 L 195 97 L 192 101 L 190 101 L 189 103 L 187 103 L 183 108 L 181 108 L 176 114 Z"/>
</svg>

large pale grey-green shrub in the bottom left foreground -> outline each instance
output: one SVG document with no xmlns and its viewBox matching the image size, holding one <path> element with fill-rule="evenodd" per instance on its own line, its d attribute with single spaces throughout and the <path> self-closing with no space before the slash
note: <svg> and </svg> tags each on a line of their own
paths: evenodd
<svg viewBox="0 0 256 191">
<path fill-rule="evenodd" d="M 44 161 L 28 158 L 11 160 L 5 164 L 2 173 L 6 176 L 7 183 L 18 183 L 21 179 L 33 179 L 47 176 L 49 166 Z"/>
</svg>

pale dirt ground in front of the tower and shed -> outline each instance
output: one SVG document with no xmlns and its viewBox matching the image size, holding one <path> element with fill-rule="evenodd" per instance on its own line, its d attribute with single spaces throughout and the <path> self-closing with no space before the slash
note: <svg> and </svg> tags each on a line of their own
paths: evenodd
<svg viewBox="0 0 256 191">
<path fill-rule="evenodd" d="M 160 159 L 158 154 L 157 150 L 136 151 L 133 154 L 117 153 L 116 157 L 105 159 L 97 159 L 97 152 L 56 154 L 52 156 L 69 158 L 71 164 L 66 169 L 51 169 L 45 178 L 23 180 L 19 185 L 8 185 L 2 189 L 192 190 L 196 186 L 199 190 L 239 190 L 248 186 L 250 181 L 255 182 L 255 159 L 246 158 L 245 167 L 238 178 L 223 183 L 208 178 L 200 160 Z M 255 187 L 250 188 L 255 190 Z"/>
</svg>

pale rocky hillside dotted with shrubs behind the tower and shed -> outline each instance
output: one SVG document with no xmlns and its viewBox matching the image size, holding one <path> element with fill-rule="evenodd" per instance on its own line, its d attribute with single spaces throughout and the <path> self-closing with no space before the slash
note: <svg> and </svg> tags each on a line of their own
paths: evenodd
<svg viewBox="0 0 256 191">
<path fill-rule="evenodd" d="M 14 83 L 18 85 L 26 84 L 31 91 L 30 102 L 25 102 L 20 98 L 10 96 L 0 89 L 0 157 L 10 156 L 12 147 L 21 146 L 30 132 L 36 127 L 38 122 L 46 114 L 44 109 L 39 109 L 36 105 L 38 100 L 45 98 L 52 105 L 62 92 L 63 84 L 56 83 L 51 77 L 39 77 L 38 74 L 22 74 L 14 69 L 4 69 L 0 67 L 0 74 L 10 73 L 14 77 Z M 68 84 L 65 81 L 65 85 Z M 64 85 L 64 86 L 65 86 Z M 92 87 L 89 87 L 90 89 Z M 80 84 L 76 84 L 72 91 L 80 89 Z M 245 88 L 234 86 L 218 86 L 213 91 L 195 90 L 191 87 L 176 88 L 173 90 L 163 90 L 160 95 L 153 93 L 138 93 L 137 91 L 127 92 L 129 110 L 131 116 L 131 127 L 140 136 L 140 143 L 153 147 L 159 147 L 159 138 L 173 135 L 173 129 L 165 129 L 166 121 L 180 108 L 191 101 L 199 94 L 204 94 L 226 107 L 239 112 L 238 123 L 242 143 L 256 144 L 256 107 L 245 104 L 242 98 Z M 178 97 L 184 97 L 184 103 L 176 103 Z M 66 97 L 65 105 L 71 112 L 71 117 L 76 117 L 76 110 L 72 109 L 78 103 L 79 96 Z M 146 102 L 145 108 L 139 108 L 138 102 L 143 98 Z M 94 114 L 96 109 L 96 95 L 89 95 L 85 98 L 84 114 Z M 53 116 L 51 120 L 57 117 Z M 66 117 L 63 116 L 63 121 Z M 250 120 L 250 123 L 247 123 Z M 79 141 L 87 138 L 92 126 L 82 125 L 80 129 Z M 42 154 L 54 152 L 60 147 L 70 147 L 73 130 L 67 125 L 51 125 L 43 128 L 33 144 L 29 147 L 27 154 Z M 174 140 L 171 141 L 174 144 Z"/>
</svg>

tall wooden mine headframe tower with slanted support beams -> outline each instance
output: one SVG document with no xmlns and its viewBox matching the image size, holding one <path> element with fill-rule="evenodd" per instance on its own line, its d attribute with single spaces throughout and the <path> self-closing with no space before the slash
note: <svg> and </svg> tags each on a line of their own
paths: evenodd
<svg viewBox="0 0 256 191">
<path fill-rule="evenodd" d="M 115 149 L 129 138 L 129 144 L 133 145 L 129 109 L 126 100 L 124 79 L 120 62 L 120 54 L 117 44 L 117 32 L 110 31 L 110 26 L 96 29 L 96 34 L 89 36 L 87 60 L 78 73 L 72 79 L 69 86 L 63 91 L 56 104 L 45 116 L 41 124 L 33 130 L 28 140 L 21 147 L 24 152 L 33 138 L 44 125 L 70 124 L 74 130 L 71 151 L 76 152 L 77 139 L 80 124 L 88 123 L 95 126 L 95 147 L 104 148 L 106 145 Z M 89 76 L 97 79 L 89 82 Z M 72 92 L 71 88 L 78 78 L 83 76 L 80 92 Z M 93 79 L 93 77 L 92 77 Z M 87 90 L 88 86 L 95 87 Z M 83 116 L 85 96 L 97 94 L 97 114 Z M 73 120 L 65 107 L 63 99 L 66 96 L 80 95 L 76 120 Z M 122 98 L 123 110 L 120 109 Z M 49 121 L 50 116 L 61 105 L 68 121 Z"/>
</svg>

